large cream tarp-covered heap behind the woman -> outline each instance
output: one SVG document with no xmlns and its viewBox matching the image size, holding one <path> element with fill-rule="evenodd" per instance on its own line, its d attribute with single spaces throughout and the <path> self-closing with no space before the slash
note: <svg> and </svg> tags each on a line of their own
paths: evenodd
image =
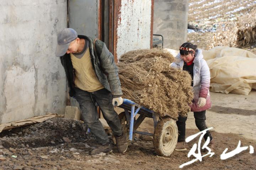
<svg viewBox="0 0 256 170">
<path fill-rule="evenodd" d="M 210 68 L 210 91 L 248 95 L 256 89 L 256 55 L 238 48 L 217 46 L 203 51 Z"/>
</svg>

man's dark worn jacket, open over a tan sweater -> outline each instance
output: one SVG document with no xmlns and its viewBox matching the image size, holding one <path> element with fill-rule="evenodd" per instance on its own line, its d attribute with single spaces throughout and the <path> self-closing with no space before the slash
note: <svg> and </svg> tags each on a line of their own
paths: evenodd
<svg viewBox="0 0 256 170">
<path fill-rule="evenodd" d="M 94 38 L 78 35 L 78 38 L 86 39 L 89 41 L 89 50 L 92 67 L 100 80 L 101 84 L 110 91 L 114 97 L 121 97 L 122 90 L 121 84 L 118 77 L 118 68 L 114 62 L 114 57 L 110 51 L 108 51 L 106 44 L 100 40 L 95 41 L 95 49 L 94 49 Z M 96 51 L 96 54 L 95 54 Z M 60 57 L 60 61 L 62 66 L 64 67 L 66 78 L 68 80 L 69 86 L 69 95 L 71 97 L 75 96 L 74 90 L 74 73 L 75 70 L 73 68 L 70 54 L 65 54 Z"/>
</svg>

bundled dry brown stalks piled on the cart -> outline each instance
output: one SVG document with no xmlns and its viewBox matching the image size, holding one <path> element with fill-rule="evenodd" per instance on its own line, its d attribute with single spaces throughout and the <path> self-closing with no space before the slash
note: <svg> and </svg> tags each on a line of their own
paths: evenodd
<svg viewBox="0 0 256 170">
<path fill-rule="evenodd" d="M 171 68 L 174 61 L 171 53 L 161 49 L 123 54 L 117 64 L 123 97 L 161 117 L 186 116 L 193 99 L 192 79 L 188 72 Z"/>
</svg>

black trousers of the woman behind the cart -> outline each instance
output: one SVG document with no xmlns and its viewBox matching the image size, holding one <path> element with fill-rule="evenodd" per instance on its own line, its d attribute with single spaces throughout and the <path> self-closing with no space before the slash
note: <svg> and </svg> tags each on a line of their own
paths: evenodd
<svg viewBox="0 0 256 170">
<path fill-rule="evenodd" d="M 194 118 L 196 122 L 196 126 L 200 131 L 203 131 L 207 129 L 205 120 L 206 120 L 206 111 L 202 112 L 194 112 Z M 178 117 L 178 120 L 176 121 L 176 124 L 178 126 L 178 142 L 184 142 L 185 141 L 185 134 L 186 134 L 186 120 L 187 117 Z M 207 137 L 210 137 L 210 141 L 212 140 L 212 135 L 210 134 L 209 131 L 206 132 L 204 135 L 204 140 L 207 140 Z"/>
</svg>

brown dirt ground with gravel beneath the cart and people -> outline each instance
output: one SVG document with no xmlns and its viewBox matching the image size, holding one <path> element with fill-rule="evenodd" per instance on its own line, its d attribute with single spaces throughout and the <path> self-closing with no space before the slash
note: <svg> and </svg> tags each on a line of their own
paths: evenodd
<svg viewBox="0 0 256 170">
<path fill-rule="evenodd" d="M 232 151 L 241 140 L 241 146 L 256 148 L 256 91 L 249 95 L 211 93 L 212 108 L 207 111 L 207 125 L 213 127 L 212 135 L 216 145 L 213 157 L 205 157 L 183 169 L 255 169 L 256 154 L 249 149 L 232 158 L 221 160 L 225 148 Z M 119 109 L 120 111 L 120 109 Z M 139 130 L 153 132 L 153 119 L 145 119 Z M 193 113 L 188 114 L 186 137 L 196 134 Z M 192 159 L 187 157 L 189 149 L 198 138 L 186 143 L 188 151 L 174 151 L 170 157 L 158 157 L 152 141 L 135 136 L 126 153 L 117 152 L 114 147 L 110 154 L 89 155 L 95 146 L 95 138 L 86 134 L 86 127 L 79 121 L 52 118 L 0 135 L 0 169 L 180 169 L 179 166 Z M 63 138 L 67 137 L 67 138 Z M 111 140 L 111 136 L 109 136 Z M 65 139 L 65 140 L 64 140 Z M 17 158 L 12 157 L 17 156 Z M 5 160 L 3 160 L 5 159 Z"/>
</svg>

